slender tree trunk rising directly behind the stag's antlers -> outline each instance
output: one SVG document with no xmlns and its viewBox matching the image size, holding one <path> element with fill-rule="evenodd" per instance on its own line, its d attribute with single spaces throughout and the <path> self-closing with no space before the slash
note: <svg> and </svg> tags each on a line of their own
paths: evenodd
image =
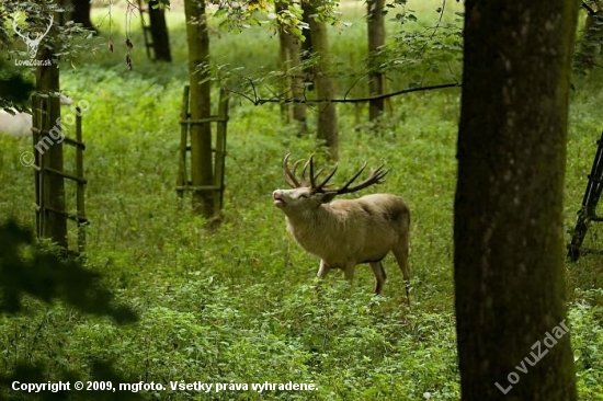
<svg viewBox="0 0 603 401">
<path fill-rule="evenodd" d="M 316 15 L 318 9 L 312 2 L 304 7 L 304 14 Z M 316 96 L 318 99 L 330 100 L 334 98 L 333 80 L 330 77 L 330 50 L 329 38 L 327 36 L 327 25 L 317 21 L 316 18 L 309 18 L 310 35 L 312 37 L 312 47 L 316 62 L 314 66 L 314 83 L 316 87 Z M 319 103 L 318 111 L 318 139 L 325 139 L 330 148 L 331 158 L 339 159 L 338 125 L 335 104 L 331 102 Z"/>
</svg>

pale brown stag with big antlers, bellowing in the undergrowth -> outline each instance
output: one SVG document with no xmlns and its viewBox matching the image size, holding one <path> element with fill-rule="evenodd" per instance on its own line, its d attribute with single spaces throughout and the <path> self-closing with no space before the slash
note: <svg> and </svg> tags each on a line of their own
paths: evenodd
<svg viewBox="0 0 603 401">
<path fill-rule="evenodd" d="M 296 171 L 304 160 L 293 165 L 289 154 L 283 161 L 285 182 L 292 190 L 276 190 L 274 205 L 285 214 L 287 229 L 307 252 L 320 257 L 318 277 L 325 278 L 331 268 L 341 268 L 352 283 L 357 264 L 368 263 L 375 275 L 375 294 L 380 294 L 386 280 L 383 260 L 391 251 L 402 272 L 407 300 L 410 302 L 410 271 L 408 267 L 410 210 L 403 200 L 390 194 L 365 195 L 357 199 L 338 199 L 384 182 L 387 170 L 383 164 L 372 170 L 368 177 L 355 185 L 366 163 L 338 188 L 328 183 L 338 164 L 317 184 L 323 172 L 315 174 L 314 154 L 306 161 L 302 175 Z M 306 171 L 309 168 L 309 182 Z"/>
</svg>

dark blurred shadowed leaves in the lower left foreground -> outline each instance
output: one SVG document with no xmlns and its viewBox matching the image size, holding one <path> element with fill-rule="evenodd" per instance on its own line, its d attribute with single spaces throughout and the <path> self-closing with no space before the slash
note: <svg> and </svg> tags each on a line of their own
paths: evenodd
<svg viewBox="0 0 603 401">
<path fill-rule="evenodd" d="M 133 323 L 137 314 L 126 307 L 112 305 L 113 295 L 99 285 L 101 275 L 82 267 L 81 262 L 65 257 L 53 247 L 35 244 L 32 232 L 9 220 L 0 225 L 0 312 L 9 314 L 22 313 L 25 309 L 24 296 L 37 298 L 44 302 L 62 301 L 70 307 L 94 316 L 107 316 L 120 324 Z M 23 391 L 3 391 L 11 389 L 13 381 L 47 382 L 48 369 L 43 363 L 32 364 L 22 360 L 14 368 L 0 374 L 0 399 L 3 400 L 62 400 L 66 391 L 39 391 L 35 394 Z M 56 370 L 56 367 L 54 367 Z M 64 382 L 82 380 L 80 373 L 59 368 L 56 377 Z M 92 359 L 91 380 L 124 382 L 112 368 L 111 363 Z M 109 399 L 109 392 L 69 392 L 76 400 Z M 140 397 L 132 392 L 111 393 L 111 399 L 138 400 Z M 115 398 L 114 396 L 117 396 Z"/>
</svg>

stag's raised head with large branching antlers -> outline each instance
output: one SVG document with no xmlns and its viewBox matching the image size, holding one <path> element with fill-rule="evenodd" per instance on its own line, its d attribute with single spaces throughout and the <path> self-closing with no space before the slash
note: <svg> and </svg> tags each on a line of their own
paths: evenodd
<svg viewBox="0 0 603 401">
<path fill-rule="evenodd" d="M 289 154 L 285 156 L 283 160 L 283 172 L 285 175 L 285 182 L 292 187 L 292 190 L 276 190 L 273 193 L 274 205 L 284 211 L 293 210 L 297 208 L 312 209 L 319 207 L 321 204 L 331 202 L 337 195 L 351 194 L 371 185 L 380 184 L 384 182 L 387 170 L 383 168 L 383 164 L 377 169 L 372 170 L 368 177 L 356 185 L 352 183 L 362 174 L 366 168 L 366 162 L 360 168 L 360 170 L 352 175 L 343 185 L 338 188 L 328 187 L 329 181 L 337 172 L 338 164 L 331 170 L 331 172 L 317 184 L 318 177 L 325 169 L 320 169 L 315 173 L 314 154 L 310 156 L 308 161 L 304 164 L 302 175 L 296 176 L 296 171 L 299 164 L 304 160 L 298 160 L 293 164 L 293 171 L 289 169 L 288 159 Z M 306 171 L 309 169 L 309 181 L 306 179 Z"/>
</svg>

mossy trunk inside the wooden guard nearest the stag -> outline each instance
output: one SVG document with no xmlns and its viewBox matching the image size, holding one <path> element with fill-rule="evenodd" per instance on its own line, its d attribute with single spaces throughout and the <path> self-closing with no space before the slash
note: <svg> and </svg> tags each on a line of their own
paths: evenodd
<svg viewBox="0 0 603 401">
<path fill-rule="evenodd" d="M 191 119 L 198 121 L 212 115 L 211 83 L 208 73 L 200 65 L 209 62 L 209 34 L 205 2 L 184 1 L 186 34 L 189 42 L 189 75 L 191 82 Z M 194 21 L 194 23 L 191 23 Z M 201 82 L 204 81 L 204 82 Z M 214 184 L 212 160 L 212 126 L 209 123 L 191 125 L 191 165 L 193 186 L 193 209 L 206 218 L 214 217 L 215 192 L 203 188 Z"/>
</svg>

